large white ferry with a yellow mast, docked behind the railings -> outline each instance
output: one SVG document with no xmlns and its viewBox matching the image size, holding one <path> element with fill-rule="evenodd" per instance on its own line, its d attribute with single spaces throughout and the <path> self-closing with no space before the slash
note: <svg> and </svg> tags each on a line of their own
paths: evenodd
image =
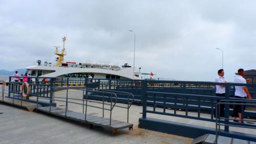
<svg viewBox="0 0 256 144">
<path fill-rule="evenodd" d="M 109 65 L 91 63 L 90 61 L 83 63 L 74 63 L 74 62 L 63 62 L 64 56 L 66 55 L 65 51 L 65 41 L 66 37 L 62 38 L 63 40 L 63 49 L 58 50 L 59 47 L 56 47 L 55 54 L 58 55 L 57 62 L 55 66 L 52 66 L 51 63 L 45 61 L 44 64 L 41 64 L 41 60 L 37 60 L 37 64 L 27 67 L 27 73 L 30 73 L 32 76 L 40 77 L 89 77 L 89 78 L 112 78 L 112 79 L 142 79 L 141 74 L 145 73 L 134 72 L 134 67 L 124 64 L 122 67 L 119 67 L 117 64 Z M 154 75 L 150 73 L 148 75 Z"/>
</svg>

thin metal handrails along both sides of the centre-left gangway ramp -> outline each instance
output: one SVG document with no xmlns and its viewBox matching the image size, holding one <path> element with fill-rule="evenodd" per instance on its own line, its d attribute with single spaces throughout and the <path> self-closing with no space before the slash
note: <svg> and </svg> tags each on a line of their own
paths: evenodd
<svg viewBox="0 0 256 144">
<path fill-rule="evenodd" d="M 34 84 L 33 84 L 34 85 Z M 51 87 L 51 89 L 54 89 L 56 87 Z M 66 91 L 66 96 L 65 97 L 61 97 L 61 96 L 56 96 L 54 93 L 52 95 L 52 97 L 50 98 L 46 98 L 46 97 L 40 97 L 37 96 L 36 97 L 36 101 L 38 104 L 38 101 L 40 99 L 44 99 L 44 100 L 49 100 L 50 106 L 53 106 L 55 102 L 65 102 L 65 116 L 67 117 L 67 111 L 69 109 L 69 104 L 75 104 L 75 105 L 80 105 L 81 109 L 82 109 L 82 113 L 85 114 L 84 120 L 87 120 L 87 114 L 88 114 L 88 107 L 92 107 L 92 108 L 96 108 L 96 109 L 101 109 L 102 110 L 102 117 L 105 117 L 104 111 L 110 111 L 110 127 L 111 127 L 111 119 L 112 119 L 112 111 L 114 109 L 114 107 L 118 107 L 118 108 L 123 108 L 123 109 L 127 109 L 127 123 L 129 122 L 129 109 L 133 104 L 133 100 L 134 100 L 134 96 L 132 93 L 127 93 L 127 92 L 119 92 L 119 91 L 113 91 L 113 90 L 99 90 L 99 89 L 93 89 L 93 88 L 86 88 L 86 87 L 62 87 L 62 88 L 58 88 L 60 90 L 65 90 Z M 72 96 L 69 95 L 69 91 L 70 90 L 76 90 L 76 91 L 81 91 L 82 95 L 80 95 L 80 98 L 73 98 Z M 97 91 L 97 93 L 99 93 L 101 96 L 101 101 L 91 101 L 90 99 L 88 99 L 88 95 L 91 92 L 95 92 Z M 126 104 L 127 106 L 119 106 L 117 105 L 117 99 L 119 99 L 117 97 L 116 93 L 121 93 L 123 95 L 126 95 L 127 97 L 127 101 Z M 105 102 L 106 100 L 108 100 L 108 102 Z M 101 107 L 96 106 L 96 105 L 92 105 L 89 104 L 89 102 L 92 102 L 94 104 L 100 104 Z M 50 107 L 50 113 L 51 113 L 51 107 Z"/>
</svg>

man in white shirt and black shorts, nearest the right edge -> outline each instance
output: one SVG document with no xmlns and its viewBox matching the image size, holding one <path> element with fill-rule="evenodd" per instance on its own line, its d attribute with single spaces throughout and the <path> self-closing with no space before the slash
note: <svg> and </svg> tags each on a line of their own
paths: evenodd
<svg viewBox="0 0 256 144">
<path fill-rule="evenodd" d="M 238 75 L 236 75 L 234 77 L 234 83 L 239 83 L 239 84 L 246 84 L 246 79 L 244 79 L 244 70 L 243 69 L 239 69 L 238 70 Z M 236 89 L 236 91 L 234 91 L 234 97 L 236 98 L 250 98 L 251 99 L 251 95 L 247 89 L 247 87 L 245 86 L 234 86 L 234 88 Z M 240 103 L 240 102 L 237 102 Z M 244 106 L 245 109 L 245 106 Z M 235 105 L 234 106 L 234 110 L 233 110 L 233 119 L 236 119 L 237 117 L 239 117 L 239 119 L 242 119 L 242 111 L 244 111 L 244 109 L 242 110 L 242 106 L 241 105 Z M 236 121 L 236 120 L 234 120 Z M 241 120 L 239 122 L 242 122 Z"/>
</svg>

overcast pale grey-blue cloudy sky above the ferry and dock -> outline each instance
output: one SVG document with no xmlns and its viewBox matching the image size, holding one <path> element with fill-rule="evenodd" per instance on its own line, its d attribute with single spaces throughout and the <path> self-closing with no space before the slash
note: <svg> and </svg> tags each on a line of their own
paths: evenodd
<svg viewBox="0 0 256 144">
<path fill-rule="evenodd" d="M 67 35 L 65 61 L 133 65 L 156 77 L 228 81 L 256 69 L 256 1 L 0 1 L 0 69 L 55 63 Z"/>
</svg>

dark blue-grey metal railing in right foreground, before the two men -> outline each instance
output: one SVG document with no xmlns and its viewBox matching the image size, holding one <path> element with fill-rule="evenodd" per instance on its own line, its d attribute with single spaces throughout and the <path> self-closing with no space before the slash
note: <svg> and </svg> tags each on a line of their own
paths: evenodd
<svg viewBox="0 0 256 144">
<path fill-rule="evenodd" d="M 142 119 L 147 118 L 147 113 L 160 114 L 166 116 L 176 116 L 187 119 L 197 119 L 206 122 L 216 122 L 215 108 L 218 100 L 226 101 L 239 101 L 240 98 L 230 97 L 234 94 L 234 86 L 246 86 L 253 98 L 255 98 L 255 84 L 234 84 L 234 83 L 208 83 L 208 82 L 193 82 L 183 81 L 181 84 L 175 85 L 168 89 L 161 88 L 159 83 L 164 81 L 147 80 L 142 82 L 142 105 L 143 114 Z M 166 81 L 168 83 L 168 81 Z M 179 82 L 177 82 L 179 83 Z M 148 85 L 151 84 L 151 85 Z M 163 86 L 165 83 L 163 83 Z M 217 97 L 211 94 L 211 91 L 215 92 L 215 85 L 225 85 L 226 93 L 225 97 Z M 153 88 L 152 88 L 153 86 Z M 156 89 L 157 87 L 157 89 Z M 177 89 L 178 87 L 178 89 Z M 183 91 L 182 91 L 183 89 Z M 190 92 L 191 91 L 191 94 Z M 197 92 L 198 91 L 198 92 Z M 248 100 L 249 101 L 249 100 Z M 234 103 L 236 104 L 236 103 Z M 241 124 L 239 122 L 233 122 L 229 120 L 229 115 L 232 115 L 232 106 L 234 104 L 225 105 L 224 116 L 224 132 L 230 132 L 229 126 L 243 126 L 254 127 L 255 124 Z M 248 105 L 255 108 L 256 105 Z M 202 113 L 208 113 L 209 115 L 203 115 Z M 244 114 L 246 117 L 255 118 L 255 111 L 246 111 Z M 166 119 L 163 119 L 166 120 Z M 184 132 L 185 133 L 185 132 Z M 212 131 L 214 133 L 214 131 Z M 189 134 L 187 134 L 189 135 Z M 252 138 L 253 139 L 253 138 Z M 255 140 L 255 139 L 254 139 Z"/>
</svg>

